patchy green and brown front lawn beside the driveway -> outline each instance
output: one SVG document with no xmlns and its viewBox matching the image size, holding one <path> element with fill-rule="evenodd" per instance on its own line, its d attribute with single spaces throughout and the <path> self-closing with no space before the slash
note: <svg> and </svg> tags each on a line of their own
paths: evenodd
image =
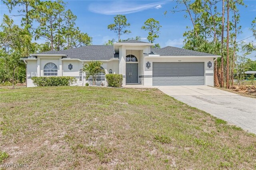
<svg viewBox="0 0 256 170">
<path fill-rule="evenodd" d="M 157 89 L 0 89 L 0 150 L 32 170 L 256 168 L 256 135 Z"/>
</svg>

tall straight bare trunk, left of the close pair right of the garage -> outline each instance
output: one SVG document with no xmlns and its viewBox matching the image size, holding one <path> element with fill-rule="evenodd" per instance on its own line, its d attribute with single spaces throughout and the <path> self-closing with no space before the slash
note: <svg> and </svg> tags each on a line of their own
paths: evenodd
<svg viewBox="0 0 256 170">
<path fill-rule="evenodd" d="M 221 87 L 224 86 L 224 56 L 223 56 L 223 48 L 224 48 L 224 13 L 225 13 L 225 1 L 222 0 L 222 28 L 221 28 Z"/>
</svg>

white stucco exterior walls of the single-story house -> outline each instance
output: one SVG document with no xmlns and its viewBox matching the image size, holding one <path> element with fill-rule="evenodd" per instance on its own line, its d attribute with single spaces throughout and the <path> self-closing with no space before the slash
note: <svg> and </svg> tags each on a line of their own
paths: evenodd
<svg viewBox="0 0 256 170">
<path fill-rule="evenodd" d="M 144 86 L 152 86 L 152 69 L 154 62 L 204 62 L 204 84 L 214 86 L 214 62 L 215 57 L 191 57 L 191 56 L 144 56 L 144 53 L 150 53 L 150 45 L 126 45 L 122 44 L 118 46 L 119 59 L 112 58 L 108 61 L 102 61 L 102 67 L 106 74 L 112 69 L 113 74 L 123 75 L 123 85 L 126 84 L 126 56 L 135 55 L 138 59 L 138 84 Z M 83 68 L 83 65 L 88 61 L 81 61 L 78 59 L 63 58 L 61 56 L 38 56 L 36 58 L 27 59 L 27 85 L 33 87 L 31 77 L 32 76 L 44 76 L 44 66 L 47 63 L 54 63 L 58 67 L 58 76 L 74 76 L 77 79 L 78 86 L 84 86 L 86 84 L 86 75 L 82 74 L 82 81 L 79 80 L 79 70 Z M 212 67 L 208 68 L 207 63 L 212 63 Z M 150 62 L 150 68 L 146 67 L 146 63 Z M 68 65 L 72 64 L 73 68 L 70 70 Z M 92 82 L 89 82 L 92 84 Z M 106 81 L 98 82 L 107 85 Z"/>
</svg>

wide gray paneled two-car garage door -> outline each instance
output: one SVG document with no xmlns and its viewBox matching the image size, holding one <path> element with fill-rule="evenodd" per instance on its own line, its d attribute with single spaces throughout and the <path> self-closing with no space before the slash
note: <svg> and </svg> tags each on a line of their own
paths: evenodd
<svg viewBox="0 0 256 170">
<path fill-rule="evenodd" d="M 204 85 L 204 62 L 154 62 L 153 85 Z"/>
</svg>

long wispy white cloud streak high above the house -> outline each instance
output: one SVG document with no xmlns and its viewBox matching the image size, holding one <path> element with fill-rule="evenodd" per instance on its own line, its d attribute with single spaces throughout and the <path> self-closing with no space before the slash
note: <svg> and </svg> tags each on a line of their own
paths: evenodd
<svg viewBox="0 0 256 170">
<path fill-rule="evenodd" d="M 150 4 L 137 4 L 134 1 L 111 1 L 107 4 L 92 3 L 89 5 L 89 10 L 98 14 L 116 15 L 116 14 L 131 14 L 134 12 L 144 11 L 150 8 L 156 8 L 166 2 L 155 2 Z M 162 6 L 161 6 L 162 7 Z M 157 8 L 159 9 L 159 8 Z"/>
</svg>

